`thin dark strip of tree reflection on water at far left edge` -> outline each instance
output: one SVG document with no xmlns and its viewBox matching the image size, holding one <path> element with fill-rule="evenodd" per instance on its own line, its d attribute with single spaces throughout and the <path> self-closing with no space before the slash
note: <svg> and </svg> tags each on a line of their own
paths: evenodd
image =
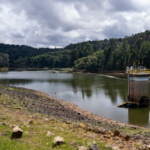
<svg viewBox="0 0 150 150">
<path fill-rule="evenodd" d="M 26 80 L 26 79 L 2 79 L 0 80 L 0 84 L 29 84 L 32 83 L 33 80 Z"/>
</svg>

